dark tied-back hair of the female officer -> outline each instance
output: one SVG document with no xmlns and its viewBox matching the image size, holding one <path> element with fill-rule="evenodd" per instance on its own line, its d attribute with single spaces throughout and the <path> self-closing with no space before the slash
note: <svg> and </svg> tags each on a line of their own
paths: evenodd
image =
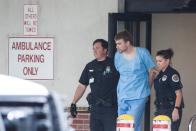
<svg viewBox="0 0 196 131">
<path fill-rule="evenodd" d="M 161 56 L 164 59 L 171 59 L 174 55 L 174 52 L 171 48 L 165 49 L 165 50 L 159 50 L 157 51 L 156 56 Z"/>
</svg>

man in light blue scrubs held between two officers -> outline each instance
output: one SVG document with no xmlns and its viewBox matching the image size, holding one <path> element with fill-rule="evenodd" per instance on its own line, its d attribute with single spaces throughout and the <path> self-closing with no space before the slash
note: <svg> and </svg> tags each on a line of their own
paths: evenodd
<svg viewBox="0 0 196 131">
<path fill-rule="evenodd" d="M 132 36 L 128 31 L 119 32 L 115 41 L 118 50 L 115 54 L 115 66 L 120 73 L 117 86 L 118 115 L 132 115 L 135 131 L 140 131 L 155 64 L 148 50 L 133 46 Z"/>
</svg>

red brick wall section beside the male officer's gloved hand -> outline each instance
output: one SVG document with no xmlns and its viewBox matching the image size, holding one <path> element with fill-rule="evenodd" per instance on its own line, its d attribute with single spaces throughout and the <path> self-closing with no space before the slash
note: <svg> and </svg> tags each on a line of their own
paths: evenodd
<svg viewBox="0 0 196 131">
<path fill-rule="evenodd" d="M 90 123 L 90 114 L 87 109 L 80 109 L 78 111 L 78 115 L 73 119 L 72 127 L 75 131 L 90 131 L 89 123 Z"/>
</svg>

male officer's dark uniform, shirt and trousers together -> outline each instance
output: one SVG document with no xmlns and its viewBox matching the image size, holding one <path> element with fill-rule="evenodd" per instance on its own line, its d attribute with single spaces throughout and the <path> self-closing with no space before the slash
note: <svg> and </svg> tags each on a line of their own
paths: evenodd
<svg viewBox="0 0 196 131">
<path fill-rule="evenodd" d="M 116 131 L 118 79 L 110 58 L 93 60 L 84 68 L 79 82 L 91 88 L 91 131 Z"/>
</svg>

